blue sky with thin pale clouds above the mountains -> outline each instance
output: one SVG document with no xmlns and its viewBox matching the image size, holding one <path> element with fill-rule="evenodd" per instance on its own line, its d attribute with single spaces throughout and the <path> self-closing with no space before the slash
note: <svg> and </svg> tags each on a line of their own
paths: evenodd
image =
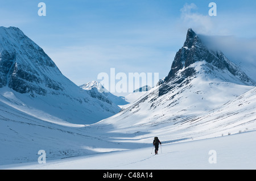
<svg viewBox="0 0 256 181">
<path fill-rule="evenodd" d="M 46 3 L 46 16 L 38 16 L 39 2 Z M 210 2 L 217 16 L 208 15 Z M 20 28 L 81 85 L 110 68 L 165 77 L 188 28 L 254 45 L 255 7 L 254 0 L 1 0 L 0 26 Z"/>
</svg>

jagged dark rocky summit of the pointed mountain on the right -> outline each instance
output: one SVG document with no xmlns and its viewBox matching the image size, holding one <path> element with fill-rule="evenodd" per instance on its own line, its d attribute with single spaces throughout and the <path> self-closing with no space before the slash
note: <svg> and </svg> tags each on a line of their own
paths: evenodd
<svg viewBox="0 0 256 181">
<path fill-rule="evenodd" d="M 196 62 L 204 62 L 204 66 L 201 69 L 195 69 Z M 223 77 L 222 74 L 228 72 L 229 77 Z M 220 50 L 210 50 L 200 40 L 200 36 L 189 28 L 184 46 L 179 49 L 176 53 L 174 61 L 172 62 L 171 70 L 167 77 L 164 79 L 165 82 L 170 82 L 180 77 L 178 82 L 182 82 L 185 78 L 194 76 L 197 74 L 204 73 L 203 76 L 211 76 L 221 81 L 233 82 L 234 79 L 240 82 L 242 85 L 255 85 L 255 82 L 233 62 L 229 61 L 228 58 Z M 236 78 L 234 78 L 236 77 Z"/>
</svg>

